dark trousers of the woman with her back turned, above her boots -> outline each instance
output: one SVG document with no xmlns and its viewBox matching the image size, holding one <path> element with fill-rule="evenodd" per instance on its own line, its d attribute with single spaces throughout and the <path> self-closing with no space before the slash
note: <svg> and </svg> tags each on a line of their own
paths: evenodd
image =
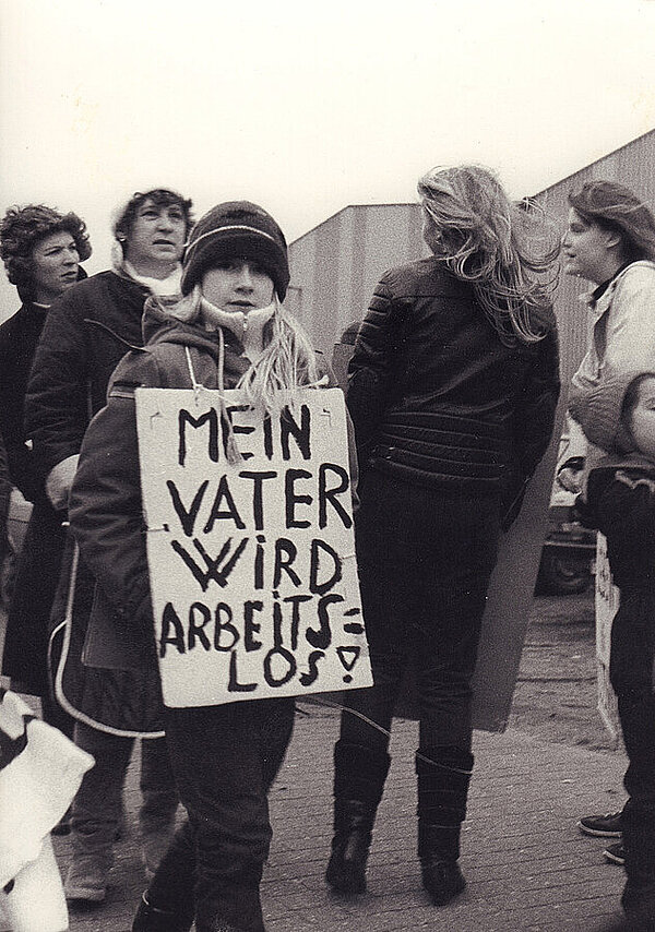
<svg viewBox="0 0 655 932">
<path fill-rule="evenodd" d="M 386 749 L 406 671 L 422 749 L 469 751 L 471 680 L 499 538 L 496 497 L 445 494 L 376 471 L 356 521 L 374 685 L 344 693 L 341 738 Z"/>
</svg>

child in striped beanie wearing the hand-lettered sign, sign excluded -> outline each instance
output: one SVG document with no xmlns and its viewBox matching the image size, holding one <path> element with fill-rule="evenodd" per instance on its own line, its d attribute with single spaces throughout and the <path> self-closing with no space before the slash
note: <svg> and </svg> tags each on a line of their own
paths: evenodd
<svg viewBox="0 0 655 932">
<path fill-rule="evenodd" d="M 194 227 L 183 298 L 146 302 L 143 350 L 116 370 L 86 433 L 70 499 L 82 557 L 129 624 L 144 679 L 158 681 L 147 575 L 134 392 L 240 387 L 260 417 L 279 393 L 327 383 L 282 303 L 289 282 L 282 230 L 248 201 L 222 203 Z M 227 455 L 237 455 L 223 410 Z M 262 932 L 260 881 L 271 841 L 267 789 L 294 721 L 293 697 L 165 708 L 166 739 L 189 821 L 144 894 L 135 932 Z"/>
</svg>

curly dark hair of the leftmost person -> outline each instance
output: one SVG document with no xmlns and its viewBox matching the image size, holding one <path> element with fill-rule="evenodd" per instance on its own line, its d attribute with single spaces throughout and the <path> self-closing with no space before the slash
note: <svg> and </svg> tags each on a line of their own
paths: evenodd
<svg viewBox="0 0 655 932">
<path fill-rule="evenodd" d="M 88 259 L 91 243 L 86 224 L 78 214 L 60 214 L 44 204 L 27 204 L 25 207 L 9 207 L 0 223 L 0 256 L 9 280 L 16 286 L 23 300 L 34 299 L 34 247 L 56 232 L 68 232 L 72 236 L 80 262 Z"/>
</svg>

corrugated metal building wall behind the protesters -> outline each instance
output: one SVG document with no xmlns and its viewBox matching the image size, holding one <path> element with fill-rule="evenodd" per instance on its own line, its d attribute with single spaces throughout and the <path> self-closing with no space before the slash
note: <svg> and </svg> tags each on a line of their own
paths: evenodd
<svg viewBox="0 0 655 932">
<path fill-rule="evenodd" d="M 655 207 L 655 130 L 541 191 L 534 200 L 559 228 L 565 226 L 571 190 L 592 178 L 620 181 Z M 327 356 L 338 335 L 366 313 L 381 274 L 428 254 L 418 204 L 345 207 L 289 246 L 288 307 Z M 587 319 L 579 296 L 588 284 L 562 276 L 556 313 L 560 328 L 562 383 L 584 355 Z"/>
</svg>

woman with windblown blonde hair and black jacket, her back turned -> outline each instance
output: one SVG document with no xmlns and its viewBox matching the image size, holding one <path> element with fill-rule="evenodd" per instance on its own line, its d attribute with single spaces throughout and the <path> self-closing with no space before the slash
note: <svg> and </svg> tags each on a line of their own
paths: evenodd
<svg viewBox="0 0 655 932">
<path fill-rule="evenodd" d="M 418 182 L 428 259 L 388 272 L 359 328 L 347 405 L 374 685 L 344 694 L 326 881 L 366 889 L 405 671 L 420 715 L 418 856 L 434 905 L 465 886 L 472 677 L 501 529 L 550 442 L 559 394 L 548 288 L 557 244 L 485 168 Z"/>
</svg>

